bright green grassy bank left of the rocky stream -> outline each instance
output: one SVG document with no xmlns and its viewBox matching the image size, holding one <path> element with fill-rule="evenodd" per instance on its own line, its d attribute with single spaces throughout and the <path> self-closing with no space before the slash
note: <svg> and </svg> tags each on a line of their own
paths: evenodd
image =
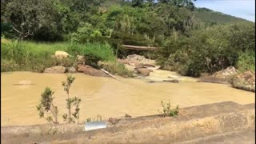
<svg viewBox="0 0 256 144">
<path fill-rule="evenodd" d="M 54 58 L 57 50 L 70 54 L 70 58 L 58 60 Z M 74 44 L 70 42 L 26 42 L 1 39 L 1 72 L 5 71 L 36 71 L 42 72 L 50 66 L 73 66 L 77 55 L 97 58 L 102 62 L 116 63 L 114 50 L 108 44 L 86 43 Z M 130 73 L 115 64 L 110 69 L 120 75 Z"/>
</svg>

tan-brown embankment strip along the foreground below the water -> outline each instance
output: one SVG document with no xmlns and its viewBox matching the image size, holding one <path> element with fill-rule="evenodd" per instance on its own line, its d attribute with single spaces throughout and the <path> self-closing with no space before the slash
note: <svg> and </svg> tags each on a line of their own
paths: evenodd
<svg viewBox="0 0 256 144">
<path fill-rule="evenodd" d="M 191 106 L 177 117 L 125 118 L 106 129 L 83 125 L 4 126 L 2 143 L 253 143 L 255 104 L 220 102 Z"/>
</svg>

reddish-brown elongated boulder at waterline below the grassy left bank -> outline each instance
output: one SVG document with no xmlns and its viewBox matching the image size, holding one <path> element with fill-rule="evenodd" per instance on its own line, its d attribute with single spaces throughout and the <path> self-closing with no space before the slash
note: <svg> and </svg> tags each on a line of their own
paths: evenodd
<svg viewBox="0 0 256 144">
<path fill-rule="evenodd" d="M 78 64 L 78 72 L 83 72 L 83 74 L 97 76 L 97 77 L 109 77 L 109 75 L 104 73 L 102 70 L 97 70 L 91 66 L 82 65 L 82 64 Z"/>
</svg>

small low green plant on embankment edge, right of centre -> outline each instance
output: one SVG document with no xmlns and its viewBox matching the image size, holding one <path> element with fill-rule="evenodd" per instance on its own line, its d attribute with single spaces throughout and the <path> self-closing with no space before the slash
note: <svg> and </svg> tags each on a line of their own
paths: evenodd
<svg viewBox="0 0 256 144">
<path fill-rule="evenodd" d="M 164 117 L 173 117 L 178 115 L 178 106 L 176 106 L 175 109 L 170 109 L 171 105 L 170 102 L 164 103 L 161 101 L 161 106 L 162 106 L 162 111 L 159 110 L 159 112 L 164 116 Z"/>
</svg>

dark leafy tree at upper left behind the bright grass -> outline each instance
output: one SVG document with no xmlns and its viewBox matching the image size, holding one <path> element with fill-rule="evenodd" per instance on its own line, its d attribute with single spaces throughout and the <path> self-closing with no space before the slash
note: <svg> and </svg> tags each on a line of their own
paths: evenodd
<svg viewBox="0 0 256 144">
<path fill-rule="evenodd" d="M 17 32 L 18 38 L 33 36 L 38 30 L 47 27 L 56 30 L 58 14 L 50 0 L 13 0 L 6 3 L 6 18 Z"/>
</svg>

